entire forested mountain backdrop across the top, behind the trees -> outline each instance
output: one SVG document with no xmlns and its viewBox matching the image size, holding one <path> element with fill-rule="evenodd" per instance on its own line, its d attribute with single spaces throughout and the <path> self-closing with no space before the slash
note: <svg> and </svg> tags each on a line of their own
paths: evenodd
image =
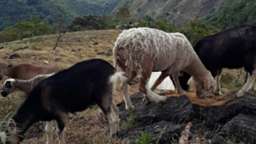
<svg viewBox="0 0 256 144">
<path fill-rule="evenodd" d="M 70 23 L 79 16 L 114 17 L 122 7 L 129 9 L 134 21 L 147 15 L 178 27 L 195 18 L 222 29 L 256 24 L 256 0 L 0 0 L 0 31 L 32 15 L 50 24 L 58 18 Z"/>
</svg>

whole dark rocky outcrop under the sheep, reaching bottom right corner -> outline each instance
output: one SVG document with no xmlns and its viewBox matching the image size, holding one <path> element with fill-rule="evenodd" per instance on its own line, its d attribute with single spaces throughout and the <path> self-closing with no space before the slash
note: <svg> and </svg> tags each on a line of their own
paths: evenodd
<svg viewBox="0 0 256 144">
<path fill-rule="evenodd" d="M 178 143 L 180 132 L 189 121 L 194 125 L 190 130 L 189 141 L 198 137 L 198 129 L 205 129 L 201 143 L 226 144 L 227 140 L 234 137 L 237 143 L 256 143 L 255 95 L 246 94 L 237 99 L 233 97 L 223 105 L 207 107 L 192 104 L 187 96 L 171 96 L 166 103 L 151 102 L 148 105 L 143 104 L 142 99 L 143 94 L 140 92 L 131 96 L 135 106 L 133 113 L 126 111 L 123 102 L 118 104 L 121 120 L 128 121 L 132 114 L 138 123 L 126 131 L 125 135 L 131 139 L 131 143 L 140 139 L 138 134 L 142 132 L 152 135 L 152 143 Z"/>
</svg>

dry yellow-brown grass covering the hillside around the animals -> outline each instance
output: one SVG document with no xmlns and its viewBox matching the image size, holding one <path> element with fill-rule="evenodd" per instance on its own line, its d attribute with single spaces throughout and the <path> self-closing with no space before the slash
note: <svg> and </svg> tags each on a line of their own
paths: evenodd
<svg viewBox="0 0 256 144">
<path fill-rule="evenodd" d="M 4 49 L 0 50 L 0 62 L 44 65 L 44 62 L 47 60 L 50 65 L 68 68 L 82 60 L 102 58 L 113 64 L 112 48 L 119 33 L 121 33 L 119 30 L 69 32 L 63 36 L 55 51 L 52 50 L 57 38 L 55 35 L 38 36 L 24 39 L 23 41 L 3 43 L 0 44 L 0 46 L 4 46 Z M 28 46 L 29 48 L 13 51 L 24 46 Z M 12 54 L 18 54 L 21 58 L 9 59 Z M 228 77 L 228 80 L 230 80 L 231 77 L 230 83 L 223 83 L 225 84 L 223 85 L 224 93 L 233 87 L 235 90 L 241 87 L 242 78 L 240 79 L 239 85 L 234 84 L 238 72 L 239 70 L 233 70 L 231 72 L 224 70 L 224 79 Z M 0 87 L 3 86 L 5 80 L 6 78 L 0 81 Z M 138 91 L 138 85 L 130 87 L 130 95 L 136 91 Z M 10 111 L 16 111 L 25 98 L 26 95 L 21 92 L 15 92 L 7 98 L 0 96 L 0 120 Z M 117 86 L 114 100 L 116 103 L 119 103 L 122 99 L 120 86 Z M 197 100 L 192 101 L 197 102 Z M 200 103 L 205 105 L 211 104 L 211 102 Z M 43 124 L 43 127 L 38 124 L 33 125 L 26 133 L 26 139 L 22 143 L 45 143 L 44 126 L 45 124 Z M 55 143 L 57 143 L 57 132 L 54 132 L 54 134 Z M 76 113 L 75 115 L 70 114 L 69 116 L 66 131 L 66 142 L 69 144 L 126 144 L 128 141 L 128 139 L 109 138 L 109 124 L 95 107 L 87 109 L 84 112 Z"/>
</svg>

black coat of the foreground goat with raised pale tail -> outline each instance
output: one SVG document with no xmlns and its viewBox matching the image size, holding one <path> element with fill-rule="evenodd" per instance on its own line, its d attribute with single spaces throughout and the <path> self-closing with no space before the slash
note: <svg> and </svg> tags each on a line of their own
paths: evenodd
<svg viewBox="0 0 256 144">
<path fill-rule="evenodd" d="M 55 119 L 58 122 L 60 117 L 56 112 L 59 110 L 65 113 L 77 112 L 98 104 L 108 113 L 112 96 L 105 95 L 110 91 L 112 93 L 109 77 L 114 72 L 115 69 L 108 62 L 92 59 L 77 63 L 39 82 L 13 117 L 22 128 L 21 135 L 37 121 Z M 49 103 L 50 107 L 46 108 L 43 103 Z M 102 103 L 107 103 L 107 108 Z"/>
</svg>

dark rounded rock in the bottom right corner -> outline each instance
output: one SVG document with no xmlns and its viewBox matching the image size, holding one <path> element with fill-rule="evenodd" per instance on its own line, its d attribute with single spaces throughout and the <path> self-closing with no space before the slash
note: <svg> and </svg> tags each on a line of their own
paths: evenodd
<svg viewBox="0 0 256 144">
<path fill-rule="evenodd" d="M 238 141 L 246 144 L 256 143 L 256 116 L 249 114 L 238 114 L 221 129 L 221 134 L 235 137 Z"/>
</svg>

